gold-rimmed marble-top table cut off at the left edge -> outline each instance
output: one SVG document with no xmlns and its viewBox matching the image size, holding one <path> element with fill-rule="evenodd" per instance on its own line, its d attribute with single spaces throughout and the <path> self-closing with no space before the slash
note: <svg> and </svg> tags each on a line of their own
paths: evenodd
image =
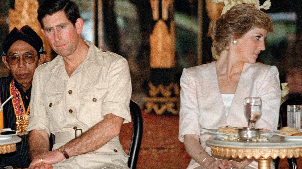
<svg viewBox="0 0 302 169">
<path fill-rule="evenodd" d="M 16 151 L 16 143 L 22 139 L 15 135 L 9 139 L 0 140 L 0 154 L 10 153 Z"/>
</svg>

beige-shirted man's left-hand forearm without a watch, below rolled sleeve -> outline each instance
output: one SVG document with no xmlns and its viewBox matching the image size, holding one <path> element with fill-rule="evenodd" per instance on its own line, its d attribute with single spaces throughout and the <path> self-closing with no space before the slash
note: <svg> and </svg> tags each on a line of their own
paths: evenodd
<svg viewBox="0 0 302 169">
<path fill-rule="evenodd" d="M 32 130 L 28 136 L 28 149 L 31 160 L 49 151 L 49 135 L 43 130 Z"/>
</svg>

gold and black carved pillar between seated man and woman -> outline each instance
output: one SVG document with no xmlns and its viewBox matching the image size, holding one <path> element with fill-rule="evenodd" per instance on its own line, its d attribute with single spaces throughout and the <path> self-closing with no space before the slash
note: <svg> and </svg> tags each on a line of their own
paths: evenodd
<svg viewBox="0 0 302 169">
<path fill-rule="evenodd" d="M 175 82 L 175 30 L 173 0 L 150 0 L 154 21 L 150 35 L 150 81 L 145 112 L 179 113 L 179 87 Z"/>
</svg>

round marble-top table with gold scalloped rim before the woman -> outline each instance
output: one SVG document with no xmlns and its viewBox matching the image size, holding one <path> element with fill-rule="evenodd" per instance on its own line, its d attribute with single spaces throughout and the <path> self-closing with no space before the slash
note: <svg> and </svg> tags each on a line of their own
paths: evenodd
<svg viewBox="0 0 302 169">
<path fill-rule="evenodd" d="M 302 140 L 288 141 L 274 135 L 266 142 L 225 141 L 220 138 L 207 140 L 211 146 L 212 155 L 232 158 L 255 158 L 259 169 L 269 169 L 271 158 L 297 158 L 302 156 Z"/>
</svg>

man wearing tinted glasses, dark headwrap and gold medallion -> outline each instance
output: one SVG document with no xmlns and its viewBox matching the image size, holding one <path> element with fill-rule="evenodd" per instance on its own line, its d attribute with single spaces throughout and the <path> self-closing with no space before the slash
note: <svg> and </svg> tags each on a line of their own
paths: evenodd
<svg viewBox="0 0 302 169">
<path fill-rule="evenodd" d="M 2 61 L 10 75 L 0 78 L 1 100 L 13 98 L 5 104 L 3 112 L 5 128 L 21 131 L 22 141 L 16 152 L 0 156 L 0 169 L 29 166 L 27 135 L 25 130 L 30 115 L 31 83 L 35 69 L 45 60 L 43 42 L 29 26 L 14 28 L 3 42 Z"/>
</svg>

